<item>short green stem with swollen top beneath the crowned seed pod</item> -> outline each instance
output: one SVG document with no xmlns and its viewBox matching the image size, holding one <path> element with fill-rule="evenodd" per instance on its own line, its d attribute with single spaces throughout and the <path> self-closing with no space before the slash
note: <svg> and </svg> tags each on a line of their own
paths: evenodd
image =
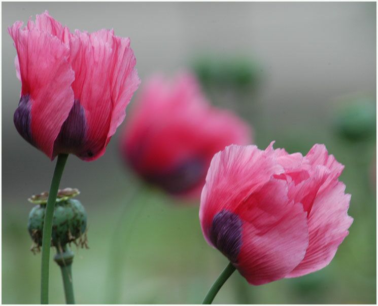
<svg viewBox="0 0 378 306">
<path fill-rule="evenodd" d="M 65 247 L 63 247 L 61 251 L 62 252 L 58 249 L 57 254 L 54 256 L 54 260 L 60 266 L 60 271 L 62 273 L 65 302 L 66 304 L 75 304 L 71 271 L 74 253 Z"/>
</svg>

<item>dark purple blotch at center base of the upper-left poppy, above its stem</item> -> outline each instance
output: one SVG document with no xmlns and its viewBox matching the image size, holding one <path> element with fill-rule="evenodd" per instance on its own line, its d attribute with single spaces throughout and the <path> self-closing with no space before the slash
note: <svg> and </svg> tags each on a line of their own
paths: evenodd
<svg viewBox="0 0 378 306">
<path fill-rule="evenodd" d="M 54 151 L 59 153 L 78 152 L 85 140 L 86 120 L 84 108 L 79 100 L 75 100 L 70 114 L 64 121 L 59 135 L 55 140 Z"/>
</svg>

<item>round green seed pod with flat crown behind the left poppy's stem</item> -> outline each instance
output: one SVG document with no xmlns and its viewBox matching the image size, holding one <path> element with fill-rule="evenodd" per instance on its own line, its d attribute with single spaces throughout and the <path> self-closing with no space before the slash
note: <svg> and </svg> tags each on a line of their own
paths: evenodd
<svg viewBox="0 0 378 306">
<path fill-rule="evenodd" d="M 79 238 L 81 245 L 86 246 L 86 240 L 81 237 L 85 234 L 87 227 L 87 213 L 78 200 L 72 199 L 79 194 L 78 189 L 65 188 L 59 190 L 54 209 L 51 246 L 60 248 L 67 243 L 76 243 Z M 48 193 L 43 193 L 28 199 L 31 203 L 38 204 L 31 209 L 27 224 L 31 239 L 36 244 L 32 250 L 38 250 L 42 246 L 47 198 Z"/>
</svg>

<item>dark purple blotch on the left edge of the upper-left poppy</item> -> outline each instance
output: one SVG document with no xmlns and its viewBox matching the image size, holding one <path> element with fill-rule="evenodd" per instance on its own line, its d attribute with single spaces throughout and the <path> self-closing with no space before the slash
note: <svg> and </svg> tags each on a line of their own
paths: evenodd
<svg viewBox="0 0 378 306">
<path fill-rule="evenodd" d="M 14 112 L 13 122 L 18 133 L 29 143 L 33 144 L 31 136 L 31 105 L 30 96 L 23 95 L 20 98 L 18 107 Z"/>
</svg>

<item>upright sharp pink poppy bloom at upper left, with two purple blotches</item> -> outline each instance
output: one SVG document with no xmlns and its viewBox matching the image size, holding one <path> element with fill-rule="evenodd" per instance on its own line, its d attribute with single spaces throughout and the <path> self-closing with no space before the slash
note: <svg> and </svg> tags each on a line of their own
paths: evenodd
<svg viewBox="0 0 378 306">
<path fill-rule="evenodd" d="M 52 160 L 99 158 L 140 84 L 130 40 L 105 29 L 71 33 L 47 11 L 22 25 L 8 28 L 22 83 L 17 131 Z"/>
</svg>

